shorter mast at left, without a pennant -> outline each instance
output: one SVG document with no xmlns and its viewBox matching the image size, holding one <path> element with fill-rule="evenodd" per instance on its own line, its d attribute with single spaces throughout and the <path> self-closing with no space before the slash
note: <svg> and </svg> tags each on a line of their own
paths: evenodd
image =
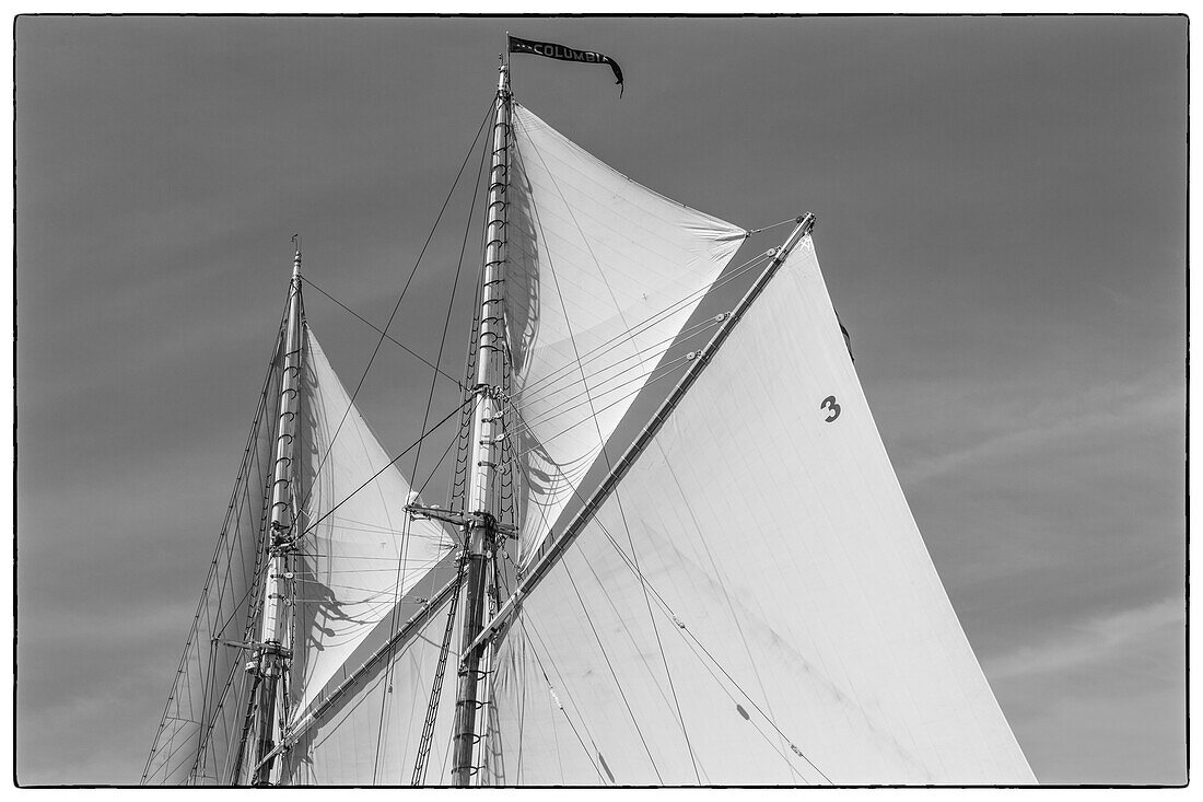
<svg viewBox="0 0 1203 802">
<path fill-rule="evenodd" d="M 279 418 L 275 425 L 275 468 L 272 480 L 272 526 L 268 548 L 267 582 L 263 586 L 263 621 L 260 630 L 257 661 L 253 667 L 259 686 L 255 712 L 255 785 L 269 785 L 275 727 L 275 697 L 280 676 L 291 651 L 285 625 L 288 598 L 288 562 L 292 550 L 292 443 L 296 431 L 297 388 L 301 379 L 301 244 L 292 258 L 289 284 L 289 317 L 284 346 L 284 376 L 280 382 Z"/>
</svg>

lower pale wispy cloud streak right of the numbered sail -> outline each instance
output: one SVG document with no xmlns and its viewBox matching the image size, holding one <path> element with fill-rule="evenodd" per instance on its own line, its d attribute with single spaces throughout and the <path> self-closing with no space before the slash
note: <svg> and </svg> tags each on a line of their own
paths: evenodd
<svg viewBox="0 0 1203 802">
<path fill-rule="evenodd" d="M 983 664 L 992 680 L 1066 671 L 1113 657 L 1150 632 L 1183 627 L 1185 621 L 1183 598 L 1169 597 L 1089 619 L 1057 631 L 1039 644 L 1020 647 Z"/>
</svg>

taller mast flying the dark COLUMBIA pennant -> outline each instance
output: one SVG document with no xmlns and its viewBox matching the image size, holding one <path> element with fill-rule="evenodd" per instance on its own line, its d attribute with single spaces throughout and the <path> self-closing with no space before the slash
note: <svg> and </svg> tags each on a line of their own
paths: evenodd
<svg viewBox="0 0 1203 802">
<path fill-rule="evenodd" d="M 505 218 L 509 185 L 510 135 L 509 65 L 504 58 L 497 78 L 493 117 L 493 154 L 488 178 L 488 207 L 485 224 L 485 270 L 480 306 L 480 337 L 476 343 L 476 383 L 473 387 L 472 462 L 467 494 L 467 577 L 461 613 L 460 683 L 456 694 L 455 735 L 452 742 L 452 783 L 472 784 L 475 768 L 476 712 L 480 657 L 484 645 L 474 645 L 484 624 L 486 559 L 492 555 L 497 519 L 490 508 L 490 488 L 497 471 L 497 441 L 502 412 L 498 391 L 502 379 L 502 355 L 505 348 L 504 281 Z"/>
</svg>

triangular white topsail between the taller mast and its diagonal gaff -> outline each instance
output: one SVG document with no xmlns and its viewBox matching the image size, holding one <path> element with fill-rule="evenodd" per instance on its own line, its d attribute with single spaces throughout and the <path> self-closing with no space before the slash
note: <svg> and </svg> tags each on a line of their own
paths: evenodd
<svg viewBox="0 0 1203 802">
<path fill-rule="evenodd" d="M 512 110 L 506 332 L 539 547 L 745 232 L 636 184 Z"/>
</svg>

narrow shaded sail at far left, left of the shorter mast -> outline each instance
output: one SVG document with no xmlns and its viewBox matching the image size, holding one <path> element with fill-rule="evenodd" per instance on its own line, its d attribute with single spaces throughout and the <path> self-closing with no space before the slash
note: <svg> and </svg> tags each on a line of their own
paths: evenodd
<svg viewBox="0 0 1203 802">
<path fill-rule="evenodd" d="M 250 678 L 243 644 L 257 637 L 263 537 L 271 501 L 277 340 L 238 478 L 180 660 L 155 733 L 143 784 L 229 784 L 237 762 Z"/>
</svg>

